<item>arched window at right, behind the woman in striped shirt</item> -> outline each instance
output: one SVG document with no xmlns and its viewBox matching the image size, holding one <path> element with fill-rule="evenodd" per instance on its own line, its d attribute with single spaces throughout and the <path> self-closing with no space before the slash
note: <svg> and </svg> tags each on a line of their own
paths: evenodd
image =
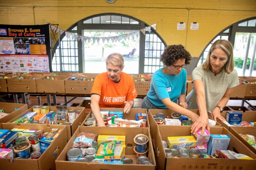
<svg viewBox="0 0 256 170">
<path fill-rule="evenodd" d="M 197 66 L 201 65 L 214 41 L 225 39 L 234 46 L 235 69 L 238 76 L 256 76 L 256 18 L 248 18 L 228 26 L 204 48 Z"/>
</svg>

